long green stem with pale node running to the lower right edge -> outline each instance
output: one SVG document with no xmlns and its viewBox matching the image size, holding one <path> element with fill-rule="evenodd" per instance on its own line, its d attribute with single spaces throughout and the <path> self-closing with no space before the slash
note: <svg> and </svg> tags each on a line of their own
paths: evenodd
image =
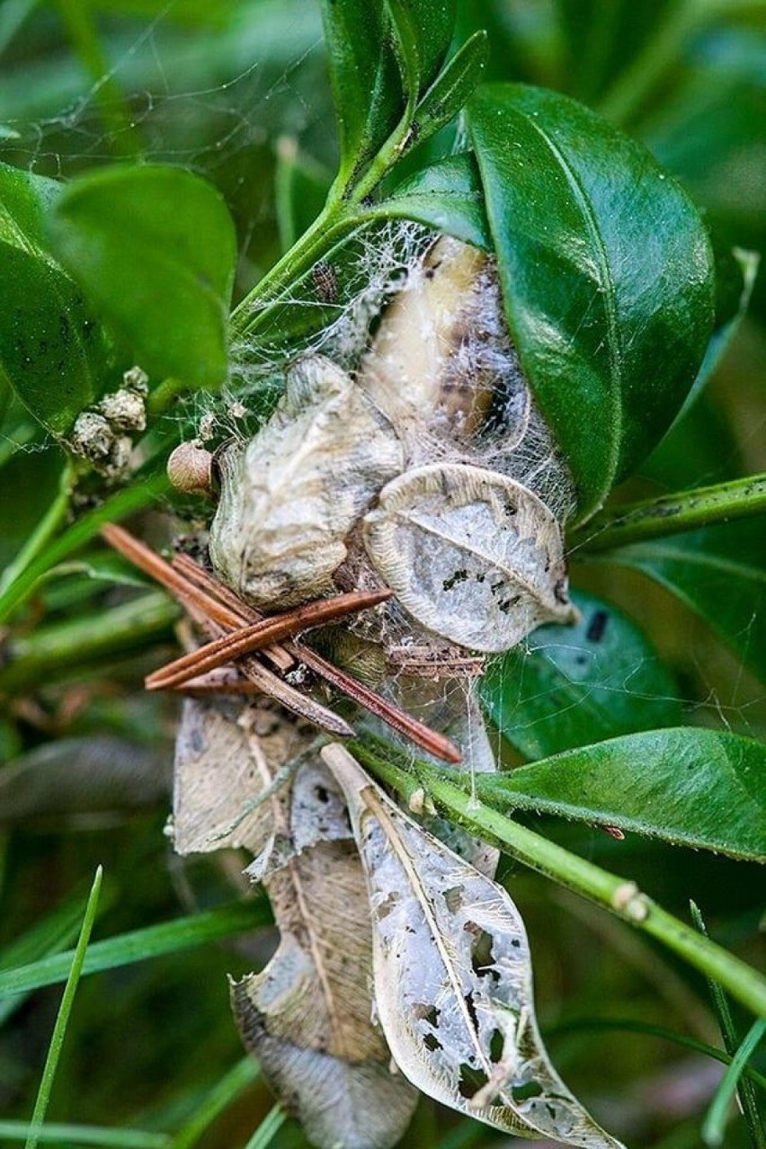
<svg viewBox="0 0 766 1149">
<path fill-rule="evenodd" d="M 364 765 L 402 793 L 410 795 L 417 787 L 418 784 L 415 782 L 413 786 L 412 776 L 407 771 L 390 762 L 382 762 L 369 751 L 363 750 L 359 754 L 358 743 L 354 743 L 353 753 L 357 754 Z M 455 816 L 472 832 L 478 832 L 482 838 L 496 842 L 525 865 L 603 905 L 637 930 L 657 938 L 695 969 L 719 981 L 755 1013 L 766 1016 L 766 978 L 738 957 L 667 913 L 647 897 L 634 882 L 609 873 L 575 854 L 570 854 L 541 834 L 483 805 L 442 771 L 423 762 L 416 763 L 413 770 L 419 785 L 436 805 Z M 471 785 L 467 777 L 462 778 L 461 782 L 466 787 Z"/>
</svg>

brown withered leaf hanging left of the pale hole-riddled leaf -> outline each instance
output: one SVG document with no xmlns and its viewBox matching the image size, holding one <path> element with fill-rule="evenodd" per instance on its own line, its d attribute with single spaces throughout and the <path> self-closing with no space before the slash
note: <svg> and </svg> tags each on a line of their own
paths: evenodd
<svg viewBox="0 0 766 1149">
<path fill-rule="evenodd" d="M 392 1073 L 373 1025 L 370 908 L 351 842 L 324 842 L 264 880 L 280 943 L 266 967 L 232 984 L 242 1040 L 309 1140 L 388 1149 L 417 1093 Z"/>
</svg>

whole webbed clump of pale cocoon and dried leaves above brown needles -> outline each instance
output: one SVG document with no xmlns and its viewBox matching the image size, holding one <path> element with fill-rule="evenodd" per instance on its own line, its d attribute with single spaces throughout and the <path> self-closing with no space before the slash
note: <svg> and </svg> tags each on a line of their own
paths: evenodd
<svg viewBox="0 0 766 1149">
<path fill-rule="evenodd" d="M 390 587 L 359 638 L 397 668 L 407 650 L 433 665 L 446 647 L 505 650 L 572 618 L 559 529 L 571 480 L 494 262 L 458 240 L 410 269 L 354 375 L 299 360 L 271 418 L 218 468 L 218 576 L 271 610 Z"/>
</svg>

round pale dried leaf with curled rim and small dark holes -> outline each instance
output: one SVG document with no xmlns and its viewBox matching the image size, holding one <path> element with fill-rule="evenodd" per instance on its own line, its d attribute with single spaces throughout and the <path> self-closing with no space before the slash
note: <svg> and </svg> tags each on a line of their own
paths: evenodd
<svg viewBox="0 0 766 1149">
<path fill-rule="evenodd" d="M 574 617 L 556 519 L 503 475 L 413 468 L 384 487 L 364 541 L 404 609 L 461 646 L 506 650 L 541 623 Z"/>
</svg>

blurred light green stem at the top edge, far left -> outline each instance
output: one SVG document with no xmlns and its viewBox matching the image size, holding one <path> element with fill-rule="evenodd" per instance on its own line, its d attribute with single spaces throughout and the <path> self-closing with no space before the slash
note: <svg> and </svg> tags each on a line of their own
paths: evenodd
<svg viewBox="0 0 766 1149">
<path fill-rule="evenodd" d="M 113 152 L 121 157 L 136 156 L 142 141 L 117 84 L 99 34 L 91 20 L 88 5 L 56 0 L 59 18 L 91 83 Z"/>
</svg>

